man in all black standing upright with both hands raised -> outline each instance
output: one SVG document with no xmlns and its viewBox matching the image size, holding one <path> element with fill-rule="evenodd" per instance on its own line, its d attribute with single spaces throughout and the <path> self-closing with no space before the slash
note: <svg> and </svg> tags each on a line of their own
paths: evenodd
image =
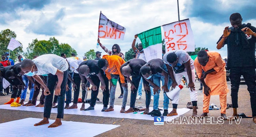
<svg viewBox="0 0 256 137">
<path fill-rule="evenodd" d="M 253 121 L 256 123 L 256 28 L 250 23 L 242 24 L 242 21 L 241 14 L 231 14 L 230 23 L 232 27 L 225 27 L 223 35 L 217 42 L 217 49 L 221 49 L 226 44 L 228 45 L 227 67 L 230 69 L 229 77 L 231 81 L 231 97 L 234 110 L 233 116 L 238 118 L 237 94 L 240 77 L 243 75 L 248 87 L 247 89 L 250 92 Z"/>
</svg>

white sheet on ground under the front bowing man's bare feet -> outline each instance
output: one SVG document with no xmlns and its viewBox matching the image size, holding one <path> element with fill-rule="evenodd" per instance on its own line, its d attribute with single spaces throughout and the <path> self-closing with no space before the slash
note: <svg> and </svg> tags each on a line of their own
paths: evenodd
<svg viewBox="0 0 256 137">
<path fill-rule="evenodd" d="M 119 125 L 93 124 L 73 121 L 61 121 L 62 125 L 48 128 L 54 120 L 49 119 L 49 124 L 34 126 L 42 119 L 26 118 L 0 124 L 1 137 L 93 137 L 107 132 Z"/>
</svg>

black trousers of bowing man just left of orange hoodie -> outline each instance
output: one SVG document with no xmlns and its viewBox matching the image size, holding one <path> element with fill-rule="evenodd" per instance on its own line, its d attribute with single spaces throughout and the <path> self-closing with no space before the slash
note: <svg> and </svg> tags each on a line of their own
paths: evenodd
<svg viewBox="0 0 256 137">
<path fill-rule="evenodd" d="M 102 94 L 103 94 L 102 102 L 103 102 L 104 107 L 108 107 L 108 103 L 109 103 L 109 88 L 108 88 L 109 83 L 108 82 L 109 81 L 108 81 L 108 78 L 106 77 L 106 75 L 104 74 L 103 70 L 100 70 L 100 73 L 101 73 L 101 75 L 104 79 L 104 82 L 106 84 L 106 90 L 104 90 L 102 92 Z M 92 75 L 90 77 L 91 77 L 93 83 L 97 86 L 97 90 L 91 90 L 90 106 L 94 107 L 96 105 L 98 91 L 99 91 L 99 88 L 100 88 L 100 79 L 96 75 Z M 87 90 L 82 92 L 82 101 L 83 101 L 83 103 L 85 103 L 86 97 L 87 97 Z"/>
</svg>

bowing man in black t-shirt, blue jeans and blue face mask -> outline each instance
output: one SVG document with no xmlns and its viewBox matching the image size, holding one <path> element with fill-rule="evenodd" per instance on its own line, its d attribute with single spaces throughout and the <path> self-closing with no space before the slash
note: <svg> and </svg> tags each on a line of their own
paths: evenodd
<svg viewBox="0 0 256 137">
<path fill-rule="evenodd" d="M 152 59 L 148 61 L 140 72 L 142 76 L 148 81 L 148 83 L 154 88 L 154 105 L 153 111 L 148 113 L 151 115 L 155 110 L 158 110 L 159 93 L 161 91 L 160 81 L 162 80 L 162 89 L 164 92 L 169 92 L 172 84 L 171 78 L 169 78 L 168 70 L 163 62 L 163 59 Z M 166 94 L 163 94 L 163 116 L 168 114 L 169 98 Z"/>
</svg>

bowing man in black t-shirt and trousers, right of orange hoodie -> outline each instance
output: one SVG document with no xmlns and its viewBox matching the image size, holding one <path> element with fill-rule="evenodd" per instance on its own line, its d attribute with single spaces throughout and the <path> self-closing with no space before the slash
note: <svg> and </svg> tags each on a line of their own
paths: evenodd
<svg viewBox="0 0 256 137">
<path fill-rule="evenodd" d="M 131 83 L 130 108 L 126 110 L 124 113 L 130 113 L 135 111 L 134 108 L 135 108 L 136 95 L 137 95 L 137 90 L 139 88 L 139 81 L 141 80 L 141 76 L 142 76 L 139 70 L 146 63 L 147 62 L 142 59 L 130 59 L 129 61 L 124 63 L 120 68 L 122 74 L 124 75 L 124 78 L 126 78 L 126 80 Z M 130 79 L 130 76 L 132 76 L 132 80 Z M 150 91 L 150 87 L 148 86 L 148 82 L 144 78 L 142 79 L 144 83 L 144 89 L 146 92 L 146 110 L 143 114 L 148 114 L 151 91 Z"/>
</svg>

